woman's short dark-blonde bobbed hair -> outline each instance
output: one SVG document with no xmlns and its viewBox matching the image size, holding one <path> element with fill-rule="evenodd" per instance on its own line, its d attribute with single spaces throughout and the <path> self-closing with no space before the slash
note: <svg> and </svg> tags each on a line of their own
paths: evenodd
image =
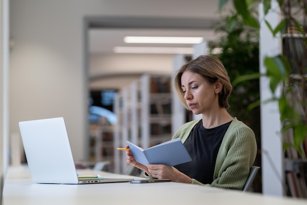
<svg viewBox="0 0 307 205">
<path fill-rule="evenodd" d="M 174 78 L 174 86 L 180 102 L 186 109 L 190 110 L 186 104 L 184 93 L 182 92 L 181 88 L 181 76 L 185 71 L 200 74 L 210 84 L 214 84 L 219 79 L 223 83 L 223 88 L 219 94 L 219 106 L 226 109 L 230 107 L 228 103 L 228 97 L 230 96 L 232 86 L 228 73 L 220 59 L 214 56 L 199 56 L 197 59 L 193 59 L 184 64 L 178 70 Z"/>
</svg>

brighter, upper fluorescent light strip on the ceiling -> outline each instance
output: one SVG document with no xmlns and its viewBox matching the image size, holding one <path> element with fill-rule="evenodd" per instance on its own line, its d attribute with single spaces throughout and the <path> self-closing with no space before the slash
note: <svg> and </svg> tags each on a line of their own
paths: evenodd
<svg viewBox="0 0 307 205">
<path fill-rule="evenodd" d="M 124 38 L 125 43 L 198 44 L 203 40 L 203 37 L 126 36 Z"/>
</svg>

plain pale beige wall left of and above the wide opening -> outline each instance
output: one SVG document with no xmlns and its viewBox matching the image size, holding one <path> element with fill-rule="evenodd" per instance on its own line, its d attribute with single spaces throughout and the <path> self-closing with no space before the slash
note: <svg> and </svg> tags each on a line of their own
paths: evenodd
<svg viewBox="0 0 307 205">
<path fill-rule="evenodd" d="M 87 156 L 88 142 L 83 18 L 108 15 L 205 18 L 217 15 L 218 2 L 10 0 L 10 4 L 13 41 L 10 132 L 19 133 L 18 121 L 21 120 L 62 116 L 75 160 L 82 160 Z"/>
</svg>

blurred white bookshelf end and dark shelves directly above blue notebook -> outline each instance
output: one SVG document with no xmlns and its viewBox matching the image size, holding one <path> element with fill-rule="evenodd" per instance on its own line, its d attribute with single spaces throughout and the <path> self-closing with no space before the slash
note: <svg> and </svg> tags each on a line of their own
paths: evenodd
<svg viewBox="0 0 307 205">
<path fill-rule="evenodd" d="M 172 138 L 171 77 L 141 76 L 141 142 L 148 148 Z"/>
</svg>

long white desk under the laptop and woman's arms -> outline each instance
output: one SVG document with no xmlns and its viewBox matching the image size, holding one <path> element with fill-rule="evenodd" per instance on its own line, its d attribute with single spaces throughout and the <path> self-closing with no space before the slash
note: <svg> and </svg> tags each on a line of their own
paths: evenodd
<svg viewBox="0 0 307 205">
<path fill-rule="evenodd" d="M 131 178 L 88 170 L 78 173 Z M 307 205 L 307 200 L 275 198 L 175 182 L 34 184 L 26 167 L 9 169 L 2 202 L 3 205 Z"/>
</svg>

